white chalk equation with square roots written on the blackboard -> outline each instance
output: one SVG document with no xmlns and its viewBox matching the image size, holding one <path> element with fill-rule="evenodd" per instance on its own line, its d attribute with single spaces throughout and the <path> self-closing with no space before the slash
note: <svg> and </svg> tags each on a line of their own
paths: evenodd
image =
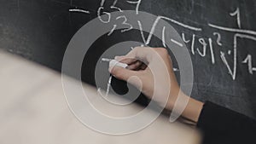
<svg viewBox="0 0 256 144">
<path fill-rule="evenodd" d="M 123 10 L 116 6 L 117 3 L 119 3 L 118 0 L 113 0 L 112 5 L 109 6 L 108 9 L 113 9 L 114 11 L 119 11 L 120 13 L 122 13 Z M 140 9 L 142 0 L 137 0 L 137 1 L 127 0 L 127 1 L 125 1 L 125 3 L 133 4 L 135 6 L 136 14 L 139 14 L 139 9 Z M 107 9 L 105 7 L 105 0 L 101 0 L 99 8 L 96 9 L 96 14 L 97 14 L 98 19 L 101 20 L 102 23 L 107 24 L 110 22 L 110 20 L 112 20 L 112 18 L 111 18 L 112 15 L 110 12 L 108 12 L 108 10 L 105 10 L 105 9 Z M 69 9 L 69 12 L 79 12 L 79 13 L 84 13 L 84 14 L 91 14 L 91 12 L 86 9 L 77 9 L 77 8 Z M 102 14 L 107 14 L 108 19 L 103 20 Z M 227 72 L 229 72 L 230 77 L 233 80 L 236 80 L 236 75 L 237 75 L 236 67 L 238 64 L 247 65 L 247 71 L 248 71 L 248 73 L 250 73 L 252 75 L 254 72 L 256 72 L 256 67 L 253 67 L 252 55 L 247 54 L 247 56 L 243 60 L 241 60 L 241 61 L 237 60 L 238 40 L 239 39 L 248 39 L 248 40 L 253 40 L 256 42 L 256 32 L 254 32 L 252 30 L 246 30 L 246 29 L 241 28 L 241 16 L 240 16 L 241 14 L 240 14 L 239 8 L 237 8 L 234 12 L 231 12 L 229 15 L 231 17 L 236 17 L 237 28 L 227 27 L 227 26 L 218 26 L 218 25 L 212 24 L 212 23 L 207 23 L 207 26 L 211 27 L 212 29 L 218 30 L 218 31 L 231 32 L 233 35 L 233 43 L 232 43 L 233 49 L 232 50 L 228 50 L 227 52 L 220 50 L 219 55 L 217 55 L 217 53 L 214 51 L 212 43 L 216 43 L 216 45 L 218 45 L 218 47 L 224 47 L 224 45 L 222 43 L 223 39 L 219 32 L 212 32 L 212 37 L 214 37 L 214 38 L 198 37 L 195 34 L 192 34 L 192 36 L 190 36 L 188 38 L 188 35 L 186 35 L 184 32 L 181 33 L 181 36 L 182 36 L 183 42 L 188 43 L 190 45 L 189 49 L 190 49 L 190 52 L 192 55 L 200 55 L 201 57 L 206 57 L 207 51 L 209 50 L 209 53 L 211 55 L 212 65 L 215 64 L 215 62 L 216 62 L 215 59 L 219 56 L 220 59 L 222 60 L 222 62 L 224 63 L 224 66 L 226 67 Z M 128 28 L 122 29 L 121 32 L 131 31 L 134 27 L 131 25 L 131 23 L 128 22 L 125 15 L 120 15 L 120 16 L 116 17 L 115 20 L 122 20 L 121 25 L 125 25 L 128 27 Z M 137 20 L 137 25 L 139 26 L 141 37 L 142 37 L 143 43 L 145 45 L 148 45 L 150 43 L 150 41 L 154 35 L 155 27 L 158 25 L 158 22 L 160 20 L 166 20 L 166 21 L 171 22 L 177 26 L 182 26 L 183 28 L 188 29 L 192 32 L 203 32 L 204 31 L 203 28 L 201 28 L 201 27 L 189 26 L 189 25 L 186 25 L 177 20 L 173 20 L 166 16 L 158 16 L 154 20 L 154 23 L 151 27 L 148 37 L 146 38 L 143 34 L 143 25 L 140 20 Z M 108 36 L 113 34 L 113 32 L 116 31 L 117 27 L 118 27 L 117 24 L 113 25 L 113 28 L 111 30 L 109 30 L 109 32 L 108 32 Z M 198 38 L 196 38 L 196 37 L 198 37 Z M 161 41 L 162 41 L 163 47 L 166 47 L 166 40 L 170 40 L 172 43 L 177 44 L 177 46 L 183 47 L 183 44 L 181 42 L 178 42 L 175 39 L 172 39 L 172 38 L 166 39 L 166 26 L 162 26 Z M 195 48 L 195 43 L 199 43 L 201 48 Z M 228 62 L 227 57 L 226 57 L 227 55 L 230 55 L 233 57 L 232 58 L 233 60 L 231 62 Z"/>
</svg>

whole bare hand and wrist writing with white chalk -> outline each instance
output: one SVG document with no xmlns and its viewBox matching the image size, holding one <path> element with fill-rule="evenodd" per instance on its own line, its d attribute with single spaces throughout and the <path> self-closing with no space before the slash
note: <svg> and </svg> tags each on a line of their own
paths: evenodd
<svg viewBox="0 0 256 144">
<path fill-rule="evenodd" d="M 116 59 L 120 60 L 120 57 L 116 57 Z M 144 64 L 147 64 L 147 68 L 137 60 L 143 60 Z M 189 95 L 184 94 L 180 89 L 173 72 L 171 57 L 165 48 L 137 47 L 132 49 L 120 60 L 129 65 L 127 68 L 122 68 L 126 65 L 117 66 L 115 61 L 113 60 L 109 64 L 113 67 L 110 67 L 108 71 L 115 78 L 137 87 L 149 99 L 157 102 L 160 107 L 174 112 L 175 114 L 171 115 L 171 118 L 174 118 L 171 119 L 172 121 L 177 118 L 178 112 L 182 112 L 180 114 L 184 118 L 197 122 L 203 103 L 189 98 Z"/>
</svg>

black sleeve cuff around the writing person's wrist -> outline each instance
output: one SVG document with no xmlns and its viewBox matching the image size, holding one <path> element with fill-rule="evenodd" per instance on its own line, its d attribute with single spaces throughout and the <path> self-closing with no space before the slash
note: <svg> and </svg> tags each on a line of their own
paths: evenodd
<svg viewBox="0 0 256 144">
<path fill-rule="evenodd" d="M 256 121 L 207 101 L 202 108 L 197 127 L 203 144 L 256 143 Z"/>
</svg>

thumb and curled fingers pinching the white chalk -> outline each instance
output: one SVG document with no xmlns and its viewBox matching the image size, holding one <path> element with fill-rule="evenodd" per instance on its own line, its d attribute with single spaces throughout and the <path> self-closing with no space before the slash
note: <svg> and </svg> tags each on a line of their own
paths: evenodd
<svg viewBox="0 0 256 144">
<path fill-rule="evenodd" d="M 164 60 L 162 59 L 164 57 Z M 136 47 L 125 56 L 116 56 L 115 60 L 128 65 L 127 69 L 120 66 L 109 67 L 109 72 L 121 80 L 127 81 L 132 76 L 139 76 L 140 70 L 145 70 L 150 65 L 151 68 L 159 67 L 161 62 L 169 58 L 168 52 L 163 48 Z M 166 62 L 168 63 L 168 62 Z M 148 65 L 148 66 L 147 66 Z"/>
</svg>

